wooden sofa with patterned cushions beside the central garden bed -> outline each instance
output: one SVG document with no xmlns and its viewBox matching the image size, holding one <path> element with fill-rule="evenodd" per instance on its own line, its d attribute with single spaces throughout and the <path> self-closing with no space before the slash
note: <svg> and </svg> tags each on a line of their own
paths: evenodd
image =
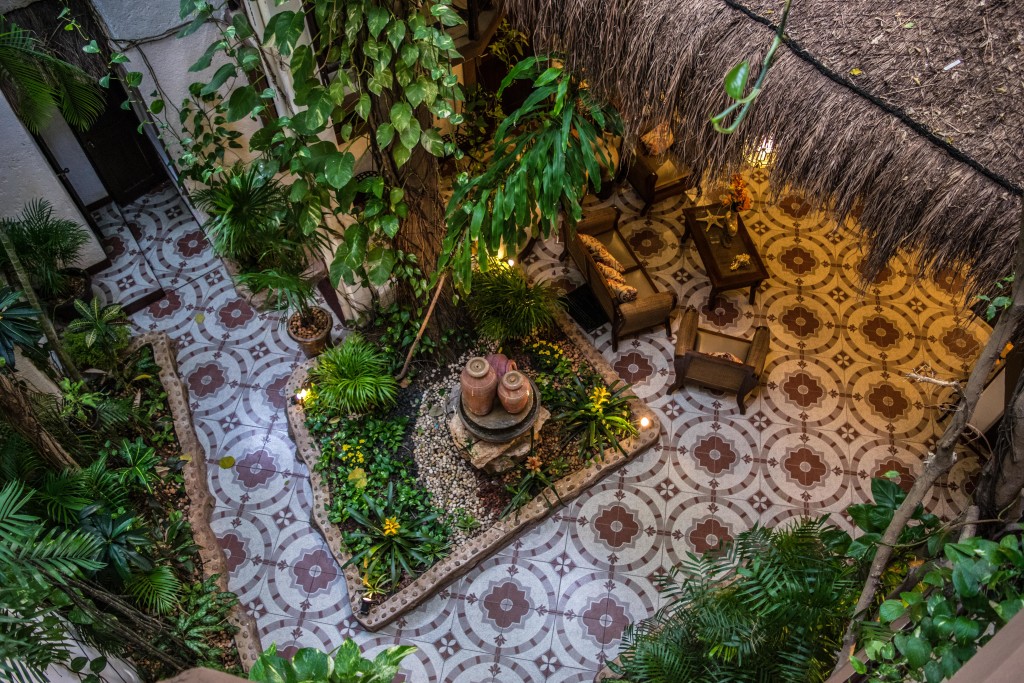
<svg viewBox="0 0 1024 683">
<path fill-rule="evenodd" d="M 625 335 L 640 332 L 657 325 L 664 325 L 666 334 L 672 337 L 669 316 L 676 307 L 676 293 L 663 292 L 647 274 L 633 248 L 618 231 L 618 218 L 622 212 L 615 207 L 598 209 L 584 214 L 583 220 L 577 224 L 571 237 L 562 228 L 562 241 L 566 249 L 561 258 L 572 256 L 572 261 L 586 278 L 594 297 L 604 313 L 611 321 L 611 349 L 618 350 L 618 340 Z M 623 279 L 637 289 L 636 301 L 620 302 L 608 288 L 604 276 L 598 271 L 596 262 L 590 252 L 580 241 L 580 234 L 590 234 L 596 238 L 604 248 L 626 266 Z"/>
</svg>

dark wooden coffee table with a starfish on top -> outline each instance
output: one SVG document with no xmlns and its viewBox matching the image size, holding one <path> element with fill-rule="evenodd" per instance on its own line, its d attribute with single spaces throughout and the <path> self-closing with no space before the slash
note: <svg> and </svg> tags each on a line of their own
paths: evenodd
<svg viewBox="0 0 1024 683">
<path fill-rule="evenodd" d="M 738 222 L 736 234 L 731 241 L 723 242 L 723 230 L 715 226 L 717 216 L 709 209 L 716 210 L 714 206 L 697 206 L 683 211 L 686 221 L 683 242 L 693 238 L 693 245 L 697 248 L 700 262 L 703 263 L 708 279 L 711 281 L 711 296 L 708 299 L 709 305 L 714 305 L 718 295 L 726 290 L 738 290 L 746 287 L 751 288 L 750 302 L 754 303 L 758 287 L 768 279 L 768 270 L 765 269 L 764 261 L 758 254 L 758 248 L 754 245 L 746 226 L 743 225 L 743 218 L 739 214 L 734 214 Z M 708 226 L 712 225 L 711 229 Z M 735 270 L 729 268 L 733 260 L 746 254 L 751 257 L 750 263 L 741 265 Z"/>
</svg>

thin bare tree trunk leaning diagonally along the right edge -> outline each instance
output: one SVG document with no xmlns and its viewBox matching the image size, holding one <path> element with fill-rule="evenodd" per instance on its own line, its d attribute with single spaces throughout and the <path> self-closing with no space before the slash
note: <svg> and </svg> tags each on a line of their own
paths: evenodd
<svg viewBox="0 0 1024 683">
<path fill-rule="evenodd" d="M 1010 307 L 1002 311 L 998 323 L 996 323 L 991 336 L 988 338 L 988 343 L 985 344 L 985 348 L 982 349 L 974 370 L 971 371 L 971 376 L 964 387 L 956 411 L 942 433 L 942 437 L 935 447 L 935 453 L 925 461 L 925 471 L 922 472 L 921 476 L 914 480 L 913 485 L 910 486 L 906 499 L 893 514 L 892 521 L 879 542 L 878 551 L 868 570 L 867 581 L 860 593 L 860 598 L 857 600 L 857 606 L 851 615 L 852 618 L 850 626 L 847 628 L 846 636 L 843 638 L 843 646 L 839 652 L 839 661 L 836 665 L 836 670 L 839 670 L 846 663 L 847 655 L 853 651 L 854 643 L 857 640 L 857 625 L 859 621 L 868 617 L 867 610 L 874 601 L 874 595 L 878 592 L 882 574 L 889 564 L 889 560 L 893 554 L 893 546 L 899 540 L 900 532 L 906 526 L 907 522 L 910 521 L 914 508 L 925 500 L 925 496 L 932 487 L 932 484 L 940 476 L 948 472 L 949 468 L 955 462 L 954 449 L 959 442 L 968 422 L 974 415 L 974 409 L 978 404 L 982 390 L 985 388 L 988 375 L 995 366 L 995 361 L 999 357 L 1004 347 L 1014 337 L 1021 322 L 1024 321 L 1024 212 L 1021 213 L 1021 226 L 1017 236 L 1016 249 L 1014 257 L 1015 279 Z"/>
</svg>

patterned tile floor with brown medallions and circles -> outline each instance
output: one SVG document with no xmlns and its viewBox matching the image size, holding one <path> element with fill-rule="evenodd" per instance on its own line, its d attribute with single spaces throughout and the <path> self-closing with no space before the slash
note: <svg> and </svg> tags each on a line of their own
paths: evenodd
<svg viewBox="0 0 1024 683">
<path fill-rule="evenodd" d="M 752 171 L 748 180 L 760 200 L 767 177 Z M 683 305 L 701 307 L 703 325 L 771 329 L 746 416 L 729 396 L 694 387 L 667 393 L 673 343 L 663 329 L 612 353 L 607 327 L 599 328 L 596 346 L 660 415 L 662 445 L 379 633 L 351 618 L 339 568 L 309 523 L 308 473 L 283 417 L 283 387 L 300 357 L 279 318 L 238 297 L 172 189 L 125 208 L 166 291 L 133 319 L 177 341 L 211 463 L 214 528 L 231 588 L 264 645 L 330 649 L 351 636 L 374 652 L 411 643 L 419 651 L 407 660 L 406 680 L 416 682 L 590 681 L 616 653 L 625 625 L 659 605 L 652 575 L 686 552 L 803 514 L 831 512 L 849 527 L 840 513 L 867 499 L 872 475 L 897 470 L 906 482 L 920 472 L 940 429 L 938 396 L 903 375 L 928 364 L 940 376 L 963 376 L 987 335 L 950 304 L 958 283 L 918 282 L 897 260 L 861 291 L 856 242 L 787 196 L 776 205 L 756 201 L 745 215 L 771 275 L 756 304 L 733 292 L 709 309 L 696 252 L 680 243 L 688 200 L 667 201 L 646 218 L 628 189 L 612 201 L 651 275 Z M 560 250 L 555 241 L 539 245 L 524 266 L 574 286 L 580 275 L 557 260 Z M 221 469 L 223 456 L 237 464 Z M 973 460 L 958 463 L 930 507 L 958 510 L 976 472 Z"/>
</svg>

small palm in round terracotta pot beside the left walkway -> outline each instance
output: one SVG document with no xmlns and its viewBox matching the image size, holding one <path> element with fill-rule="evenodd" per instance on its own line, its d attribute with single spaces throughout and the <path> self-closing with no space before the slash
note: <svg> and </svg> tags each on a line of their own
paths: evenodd
<svg viewBox="0 0 1024 683">
<path fill-rule="evenodd" d="M 239 283 L 254 295 L 266 295 L 266 305 L 290 310 L 286 324 L 288 336 L 298 342 L 307 357 L 318 355 L 331 340 L 334 318 L 316 305 L 313 283 L 301 274 L 284 270 L 261 270 L 239 275 Z"/>
</svg>

